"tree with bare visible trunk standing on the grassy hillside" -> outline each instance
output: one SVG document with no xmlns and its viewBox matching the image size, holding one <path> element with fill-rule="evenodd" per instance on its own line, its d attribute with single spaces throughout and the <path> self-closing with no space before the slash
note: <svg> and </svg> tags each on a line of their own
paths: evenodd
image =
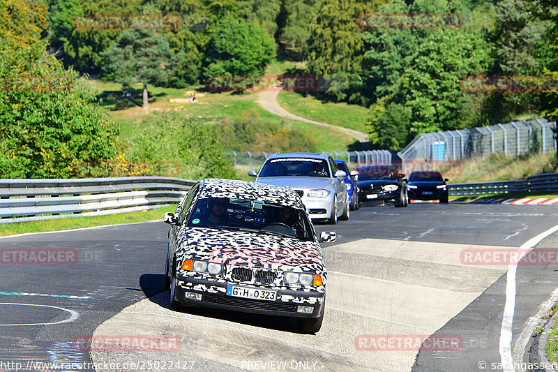
<svg viewBox="0 0 558 372">
<path fill-rule="evenodd" d="M 184 54 L 174 54 L 163 35 L 144 29 L 124 31 L 116 43 L 101 53 L 103 79 L 128 86 L 143 84 L 143 107 L 148 106 L 147 84 L 160 87 L 182 86 L 176 76 L 176 66 L 184 61 Z"/>
</svg>

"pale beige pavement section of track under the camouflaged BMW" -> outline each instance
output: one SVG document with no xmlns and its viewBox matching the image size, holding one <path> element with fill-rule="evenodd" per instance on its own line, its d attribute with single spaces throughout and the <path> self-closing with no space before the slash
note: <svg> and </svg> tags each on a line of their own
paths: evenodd
<svg viewBox="0 0 558 372">
<path fill-rule="evenodd" d="M 508 268 L 507 262 L 464 261 L 464 251 L 478 249 L 515 248 L 384 239 L 324 248 L 326 315 L 316 335 L 297 333 L 290 318 L 208 308 L 172 311 L 169 292 L 161 292 L 103 322 L 93 338 L 168 336 L 176 341 L 172 348 L 93 348 L 91 361 L 103 372 L 149 362 L 158 362 L 161 371 L 171 363 L 190 371 L 410 371 L 421 343 Z M 434 346 L 451 348 L 453 336 Z M 114 368 L 126 362 L 128 368 Z"/>
</svg>

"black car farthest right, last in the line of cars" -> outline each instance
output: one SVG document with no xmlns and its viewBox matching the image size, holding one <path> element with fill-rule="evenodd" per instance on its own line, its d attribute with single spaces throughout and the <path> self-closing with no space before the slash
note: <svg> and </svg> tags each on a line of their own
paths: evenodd
<svg viewBox="0 0 558 372">
<path fill-rule="evenodd" d="M 411 200 L 439 200 L 448 202 L 448 179 L 436 170 L 416 170 L 411 172 L 407 193 Z"/>
</svg>

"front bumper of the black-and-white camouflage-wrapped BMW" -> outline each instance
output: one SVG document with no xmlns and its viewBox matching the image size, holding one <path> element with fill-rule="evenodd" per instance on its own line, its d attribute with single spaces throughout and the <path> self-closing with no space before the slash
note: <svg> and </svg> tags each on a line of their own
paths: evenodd
<svg viewBox="0 0 558 372">
<path fill-rule="evenodd" d="M 216 282 L 190 276 L 178 276 L 177 280 L 175 299 L 183 304 L 294 318 L 317 318 L 322 311 L 322 306 L 324 306 L 324 292 L 306 292 L 269 286 L 246 285 L 250 288 L 277 290 L 276 301 L 266 301 L 228 296 L 227 286 L 240 285 L 239 283 Z M 202 299 L 187 297 L 187 292 L 202 295 Z M 310 307 L 312 312 L 301 313 L 298 311 L 299 306 Z"/>
</svg>

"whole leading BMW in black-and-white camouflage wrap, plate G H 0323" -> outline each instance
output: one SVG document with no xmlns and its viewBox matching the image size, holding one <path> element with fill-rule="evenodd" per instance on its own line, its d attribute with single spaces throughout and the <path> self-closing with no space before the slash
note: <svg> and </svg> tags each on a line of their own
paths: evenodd
<svg viewBox="0 0 558 372">
<path fill-rule="evenodd" d="M 203 179 L 171 225 L 165 288 L 172 308 L 209 306 L 291 316 L 301 332 L 324 318 L 326 267 L 299 195 L 289 188 L 230 179 Z"/>
</svg>

